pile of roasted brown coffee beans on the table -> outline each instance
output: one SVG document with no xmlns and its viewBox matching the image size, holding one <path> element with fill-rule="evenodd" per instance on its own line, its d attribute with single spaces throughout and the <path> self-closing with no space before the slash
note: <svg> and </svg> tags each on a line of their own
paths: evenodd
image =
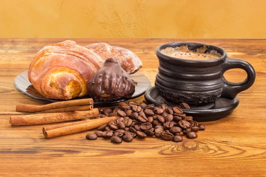
<svg viewBox="0 0 266 177">
<path fill-rule="evenodd" d="M 158 107 L 147 103 L 120 102 L 116 107 L 99 108 L 100 117 L 119 117 L 98 127 L 86 138 L 96 140 L 102 137 L 113 143 L 131 142 L 135 137 L 157 137 L 173 142 L 181 142 L 183 136 L 195 139 L 197 131 L 204 130 L 205 126 L 184 114 L 182 108 L 189 109 L 189 105 L 181 103 L 180 106 L 169 107 L 163 104 Z"/>
</svg>

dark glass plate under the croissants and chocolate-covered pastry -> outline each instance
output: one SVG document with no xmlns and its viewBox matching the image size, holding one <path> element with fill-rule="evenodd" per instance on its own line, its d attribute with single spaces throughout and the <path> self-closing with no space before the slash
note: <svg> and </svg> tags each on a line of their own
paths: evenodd
<svg viewBox="0 0 266 177">
<path fill-rule="evenodd" d="M 104 101 L 104 102 L 94 101 L 94 105 L 103 105 L 103 104 L 107 105 L 107 104 L 118 103 L 121 101 L 126 101 L 129 99 L 134 99 L 134 98 L 141 96 L 142 94 L 145 93 L 145 91 L 147 89 L 149 89 L 150 80 L 144 74 L 136 72 L 134 74 L 131 74 L 130 78 L 136 83 L 135 93 L 132 95 L 131 98 L 122 98 L 119 100 Z M 47 99 L 47 98 L 43 97 L 42 95 L 40 95 L 39 93 L 37 93 L 37 91 L 34 89 L 32 84 L 28 80 L 28 71 L 24 71 L 24 72 L 20 73 L 15 78 L 14 85 L 19 92 L 21 92 L 21 93 L 23 93 L 23 94 L 25 94 L 31 98 L 34 98 L 34 99 L 45 100 L 45 101 L 50 101 L 50 102 L 63 101 L 63 100 Z M 84 99 L 84 98 L 90 98 L 90 97 L 85 96 L 85 97 L 79 97 L 79 98 L 74 98 L 74 99 Z"/>
</svg>

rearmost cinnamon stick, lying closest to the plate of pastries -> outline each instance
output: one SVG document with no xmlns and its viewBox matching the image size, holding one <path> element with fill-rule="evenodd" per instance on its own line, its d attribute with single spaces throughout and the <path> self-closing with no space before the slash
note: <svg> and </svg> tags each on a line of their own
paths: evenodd
<svg viewBox="0 0 266 177">
<path fill-rule="evenodd" d="M 93 99 L 79 99 L 79 100 L 67 100 L 55 103 L 49 103 L 46 105 L 31 105 L 19 103 L 16 105 L 16 111 L 18 112 L 41 112 L 50 109 L 66 108 L 71 106 L 80 106 L 80 105 L 93 105 Z"/>
</svg>

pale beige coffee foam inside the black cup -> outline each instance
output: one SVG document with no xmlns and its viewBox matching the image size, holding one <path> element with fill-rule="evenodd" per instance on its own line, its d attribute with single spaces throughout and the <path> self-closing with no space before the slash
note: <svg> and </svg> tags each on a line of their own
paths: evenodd
<svg viewBox="0 0 266 177">
<path fill-rule="evenodd" d="M 179 59 L 188 59 L 188 60 L 212 60 L 221 57 L 215 50 L 211 50 L 207 52 L 207 46 L 203 46 L 202 48 L 198 48 L 196 52 L 191 51 L 185 46 L 179 46 L 176 48 L 167 47 L 162 49 L 161 52 L 167 56 L 179 58 Z"/>
</svg>

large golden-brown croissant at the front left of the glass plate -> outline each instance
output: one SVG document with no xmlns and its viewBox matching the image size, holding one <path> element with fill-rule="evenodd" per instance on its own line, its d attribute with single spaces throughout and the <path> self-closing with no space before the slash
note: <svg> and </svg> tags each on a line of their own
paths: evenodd
<svg viewBox="0 0 266 177">
<path fill-rule="evenodd" d="M 42 48 L 30 63 L 28 79 L 49 99 L 71 99 L 88 94 L 87 82 L 104 60 L 72 40 Z"/>
</svg>

